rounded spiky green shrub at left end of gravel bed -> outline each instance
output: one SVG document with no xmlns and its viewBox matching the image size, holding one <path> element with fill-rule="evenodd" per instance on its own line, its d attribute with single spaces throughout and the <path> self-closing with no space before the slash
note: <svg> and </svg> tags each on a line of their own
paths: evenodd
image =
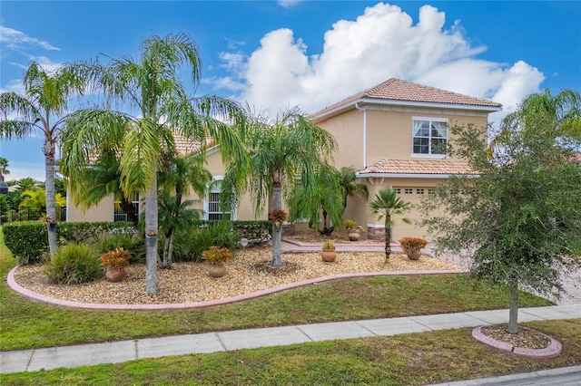
<svg viewBox="0 0 581 386">
<path fill-rule="evenodd" d="M 99 251 L 86 244 L 59 246 L 56 254 L 44 263 L 44 274 L 52 283 L 77 285 L 103 275 Z"/>
</svg>

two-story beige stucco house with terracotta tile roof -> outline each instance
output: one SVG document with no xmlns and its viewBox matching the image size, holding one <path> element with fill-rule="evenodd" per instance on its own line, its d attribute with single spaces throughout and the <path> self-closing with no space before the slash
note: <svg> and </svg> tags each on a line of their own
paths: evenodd
<svg viewBox="0 0 581 386">
<path fill-rule="evenodd" d="M 311 114 L 310 118 L 321 128 L 330 131 L 338 142 L 335 166 L 351 166 L 358 170 L 359 183 L 369 188 L 369 198 L 353 197 L 348 201 L 344 218 L 353 218 L 366 227 L 367 236 L 383 237 L 383 221 L 370 214 L 368 204 L 381 188 L 396 188 L 401 198 L 419 203 L 430 189 L 455 173 L 468 172 L 467 165 L 446 154 L 448 126 L 473 123 L 487 126 L 488 114 L 499 111 L 501 105 L 455 92 L 447 92 L 413 82 L 389 79 L 368 90 L 330 105 Z M 199 144 L 176 139 L 178 150 L 190 154 Z M 219 149 L 208 151 L 207 169 L 214 176 L 210 192 L 199 199 L 198 208 L 203 217 L 217 219 L 224 216 L 218 193 L 224 174 Z M 70 195 L 69 195 L 70 197 Z M 139 198 L 134 207 L 141 208 Z M 264 210 L 261 219 L 266 219 Z M 255 219 L 251 199 L 241 198 L 233 219 Z M 425 229 L 415 222 L 419 211 L 407 216 L 412 225 L 396 219 L 393 237 L 424 236 Z M 67 198 L 68 221 L 113 221 L 125 219 L 113 197 L 105 198 L 95 207 L 82 211 Z M 300 224 L 297 228 L 304 227 Z"/>
</svg>

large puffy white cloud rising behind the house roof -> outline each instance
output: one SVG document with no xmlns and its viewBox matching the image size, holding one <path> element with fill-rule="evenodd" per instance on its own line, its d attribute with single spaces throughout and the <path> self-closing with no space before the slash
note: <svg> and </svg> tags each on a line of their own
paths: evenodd
<svg viewBox="0 0 581 386">
<path fill-rule="evenodd" d="M 294 105 L 317 111 L 391 77 L 492 99 L 505 111 L 538 91 L 544 75 L 536 68 L 478 59 L 486 47 L 473 46 L 459 21 L 445 22 L 431 5 L 414 23 L 399 6 L 379 3 L 333 24 L 321 53 L 309 54 L 290 29 L 265 34 L 250 55 L 222 53 L 231 76 L 213 82 L 271 114 Z"/>
</svg>

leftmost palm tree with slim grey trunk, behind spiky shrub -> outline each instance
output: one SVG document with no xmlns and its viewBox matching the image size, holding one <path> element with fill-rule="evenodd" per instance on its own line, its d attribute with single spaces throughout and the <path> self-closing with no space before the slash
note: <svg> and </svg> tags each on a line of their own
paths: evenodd
<svg viewBox="0 0 581 386">
<path fill-rule="evenodd" d="M 76 95 L 83 95 L 86 76 L 82 67 L 74 64 L 47 72 L 38 63 L 30 63 L 23 84 L 25 95 L 15 92 L 0 94 L 0 138 L 25 138 L 40 130 L 44 135 L 44 174 L 46 180 L 46 214 L 56 221 L 54 202 L 54 154 L 58 131 L 66 118 L 67 102 Z M 12 117 L 15 118 L 12 118 Z M 51 119 L 57 118 L 54 123 Z M 56 227 L 48 227 L 48 246 L 51 255 L 56 252 Z"/>
</svg>

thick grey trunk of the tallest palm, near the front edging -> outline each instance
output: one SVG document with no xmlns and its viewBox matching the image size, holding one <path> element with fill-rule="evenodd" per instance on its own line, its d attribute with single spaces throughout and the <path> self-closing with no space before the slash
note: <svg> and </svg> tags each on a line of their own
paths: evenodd
<svg viewBox="0 0 581 386">
<path fill-rule="evenodd" d="M 153 177 L 152 185 L 145 196 L 145 234 L 155 231 L 155 243 L 150 246 L 145 243 L 145 292 L 157 294 L 160 292 L 157 278 L 157 176 Z"/>
</svg>

